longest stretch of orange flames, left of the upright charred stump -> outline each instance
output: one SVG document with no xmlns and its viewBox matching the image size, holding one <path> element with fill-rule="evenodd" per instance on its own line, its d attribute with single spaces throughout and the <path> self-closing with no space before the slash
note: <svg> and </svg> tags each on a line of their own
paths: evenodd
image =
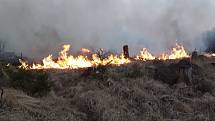
<svg viewBox="0 0 215 121">
<path fill-rule="evenodd" d="M 125 59 L 123 55 L 110 55 L 108 58 L 101 59 L 97 54 L 93 54 L 92 59 L 89 59 L 87 56 L 83 55 L 77 57 L 68 55 L 69 50 L 70 45 L 64 45 L 63 50 L 59 53 L 57 61 L 54 61 L 52 55 L 49 55 L 43 59 L 42 64 L 28 65 L 26 62 L 20 61 L 22 64 L 20 67 L 25 69 L 78 69 L 98 65 L 121 65 L 130 63 L 130 60 Z"/>
</svg>

